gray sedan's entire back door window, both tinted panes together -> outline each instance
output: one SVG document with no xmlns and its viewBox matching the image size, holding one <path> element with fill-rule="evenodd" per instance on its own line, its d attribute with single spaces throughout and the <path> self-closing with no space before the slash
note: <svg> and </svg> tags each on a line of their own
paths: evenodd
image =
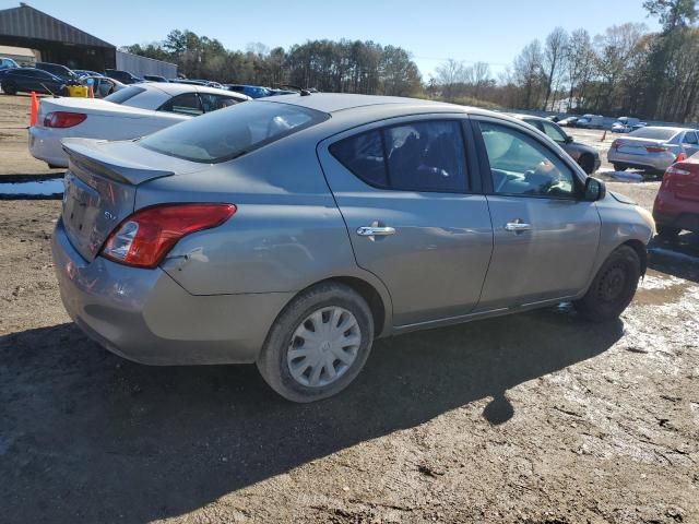
<svg viewBox="0 0 699 524">
<path fill-rule="evenodd" d="M 344 139 L 332 155 L 370 186 L 400 191 L 469 191 L 461 122 L 419 121 Z"/>
</svg>

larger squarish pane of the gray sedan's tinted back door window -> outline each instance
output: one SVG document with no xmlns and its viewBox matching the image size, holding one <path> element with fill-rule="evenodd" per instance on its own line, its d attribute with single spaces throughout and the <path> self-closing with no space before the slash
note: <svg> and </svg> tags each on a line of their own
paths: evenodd
<svg viewBox="0 0 699 524">
<path fill-rule="evenodd" d="M 392 189 L 465 191 L 466 166 L 461 122 L 433 121 L 383 131 Z"/>
</svg>

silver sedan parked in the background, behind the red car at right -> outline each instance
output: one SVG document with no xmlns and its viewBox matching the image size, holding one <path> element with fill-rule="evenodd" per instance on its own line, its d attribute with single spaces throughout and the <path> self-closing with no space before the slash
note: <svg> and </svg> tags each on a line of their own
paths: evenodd
<svg viewBox="0 0 699 524">
<path fill-rule="evenodd" d="M 612 142 L 607 160 L 617 171 L 631 167 L 664 172 L 678 157 L 687 158 L 698 151 L 697 130 L 649 126 Z"/>
</svg>

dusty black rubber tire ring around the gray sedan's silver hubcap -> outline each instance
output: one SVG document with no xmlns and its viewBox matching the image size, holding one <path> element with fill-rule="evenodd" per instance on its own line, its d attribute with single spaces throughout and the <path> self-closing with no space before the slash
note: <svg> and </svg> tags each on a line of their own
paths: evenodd
<svg viewBox="0 0 699 524">
<path fill-rule="evenodd" d="M 287 352 L 292 336 L 300 322 L 313 311 L 327 307 L 346 309 L 359 324 L 362 343 L 357 358 L 344 374 L 335 382 L 321 388 L 308 388 L 299 384 L 291 374 Z M 258 359 L 258 369 L 270 386 L 293 402 L 313 402 L 340 393 L 359 374 L 374 343 L 374 321 L 364 299 L 343 285 L 328 285 L 298 296 L 280 314 L 270 330 L 268 340 Z"/>
</svg>

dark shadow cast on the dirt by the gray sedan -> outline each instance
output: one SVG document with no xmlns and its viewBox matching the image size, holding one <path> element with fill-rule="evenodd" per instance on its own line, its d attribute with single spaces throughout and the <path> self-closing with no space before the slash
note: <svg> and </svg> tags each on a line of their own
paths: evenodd
<svg viewBox="0 0 699 524">
<path fill-rule="evenodd" d="M 0 337 L 3 522 L 150 522 L 593 358 L 621 322 L 559 309 L 378 341 L 357 381 L 297 405 L 253 366 L 147 367 L 74 324 Z M 7 519 L 10 520 L 7 520 Z"/>
</svg>

